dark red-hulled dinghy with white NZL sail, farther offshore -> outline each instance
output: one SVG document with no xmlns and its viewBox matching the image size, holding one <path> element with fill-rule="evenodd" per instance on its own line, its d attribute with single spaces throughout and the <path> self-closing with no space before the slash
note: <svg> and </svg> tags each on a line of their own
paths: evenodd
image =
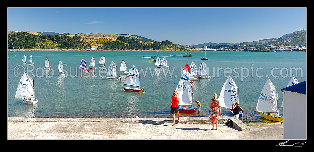
<svg viewBox="0 0 314 152">
<path fill-rule="evenodd" d="M 124 91 L 139 92 L 142 90 L 142 89 L 139 89 L 139 73 L 134 65 L 129 70 L 129 73 L 127 74 L 127 79 L 125 79 L 124 84 L 138 87 L 138 88 L 125 87 L 123 89 Z"/>
</svg>

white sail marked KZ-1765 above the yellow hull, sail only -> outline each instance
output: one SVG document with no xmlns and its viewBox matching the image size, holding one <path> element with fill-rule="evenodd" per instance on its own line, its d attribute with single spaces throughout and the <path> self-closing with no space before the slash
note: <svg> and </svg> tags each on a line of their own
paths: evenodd
<svg viewBox="0 0 314 152">
<path fill-rule="evenodd" d="M 258 112 L 278 112 L 277 89 L 268 78 L 261 95 L 257 100 L 256 110 Z"/>
</svg>

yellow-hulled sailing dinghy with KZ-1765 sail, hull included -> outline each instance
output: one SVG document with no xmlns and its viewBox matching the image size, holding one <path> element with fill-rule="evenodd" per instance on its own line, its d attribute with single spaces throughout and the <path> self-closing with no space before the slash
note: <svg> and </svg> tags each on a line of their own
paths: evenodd
<svg viewBox="0 0 314 152">
<path fill-rule="evenodd" d="M 282 116 L 278 111 L 278 93 L 276 87 L 268 78 L 263 86 L 261 95 L 257 100 L 256 110 L 265 119 L 272 121 L 282 121 Z"/>
</svg>

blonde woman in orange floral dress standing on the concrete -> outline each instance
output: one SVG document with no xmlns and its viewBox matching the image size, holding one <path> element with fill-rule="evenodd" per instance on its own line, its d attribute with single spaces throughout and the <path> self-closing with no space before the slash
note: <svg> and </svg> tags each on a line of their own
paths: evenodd
<svg viewBox="0 0 314 152">
<path fill-rule="evenodd" d="M 219 100 L 217 100 L 217 94 L 216 93 L 214 93 L 213 98 L 209 101 L 209 111 L 208 112 L 210 112 L 210 123 L 213 125 L 213 128 L 211 130 L 217 130 L 219 113 L 221 112 L 221 110 L 220 110 Z M 216 129 L 214 129 L 214 123 L 215 122 L 216 122 Z"/>
</svg>

